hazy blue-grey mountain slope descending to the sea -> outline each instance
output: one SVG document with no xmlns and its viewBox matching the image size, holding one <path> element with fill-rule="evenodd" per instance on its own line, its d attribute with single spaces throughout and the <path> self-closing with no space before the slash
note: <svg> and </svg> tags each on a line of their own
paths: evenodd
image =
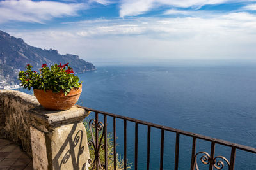
<svg viewBox="0 0 256 170">
<path fill-rule="evenodd" d="M 96 69 L 92 63 L 79 59 L 77 55 L 60 55 L 57 50 L 42 50 L 0 30 L 0 87 L 19 83 L 18 73 L 24 70 L 27 64 L 37 70 L 42 64 L 52 65 L 60 62 L 69 62 L 75 73 Z"/>
</svg>

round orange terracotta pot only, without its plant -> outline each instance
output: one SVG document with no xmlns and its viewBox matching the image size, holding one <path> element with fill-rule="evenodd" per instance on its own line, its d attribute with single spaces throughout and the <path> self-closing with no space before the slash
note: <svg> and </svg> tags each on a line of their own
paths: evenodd
<svg viewBox="0 0 256 170">
<path fill-rule="evenodd" d="M 82 92 L 82 85 L 79 88 L 73 88 L 65 96 L 63 91 L 52 92 L 52 90 L 39 90 L 33 89 L 34 94 L 38 102 L 44 106 L 47 110 L 68 110 L 76 104 L 79 99 L 79 96 Z"/>
</svg>

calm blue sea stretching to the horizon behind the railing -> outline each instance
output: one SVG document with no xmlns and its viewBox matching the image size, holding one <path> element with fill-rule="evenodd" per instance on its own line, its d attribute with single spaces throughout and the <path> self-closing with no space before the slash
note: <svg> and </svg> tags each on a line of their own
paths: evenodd
<svg viewBox="0 0 256 170">
<path fill-rule="evenodd" d="M 256 64 L 103 64 L 79 78 L 83 80 L 80 105 L 256 148 Z M 112 127 L 108 117 L 109 132 Z M 122 120 L 117 120 L 117 136 L 122 157 Z M 150 169 L 159 169 L 160 138 L 161 131 L 152 128 Z M 192 139 L 180 136 L 179 169 L 190 168 L 191 148 Z M 196 152 L 210 150 L 211 143 L 198 140 Z M 164 169 L 173 169 L 174 153 L 175 134 L 166 132 Z M 139 125 L 138 154 L 138 169 L 146 169 L 147 127 L 143 125 Z M 216 145 L 215 155 L 230 159 L 230 148 Z M 127 158 L 134 162 L 130 122 Z M 199 159 L 198 164 L 209 169 Z M 235 165 L 256 169 L 256 155 L 237 150 Z"/>
</svg>

